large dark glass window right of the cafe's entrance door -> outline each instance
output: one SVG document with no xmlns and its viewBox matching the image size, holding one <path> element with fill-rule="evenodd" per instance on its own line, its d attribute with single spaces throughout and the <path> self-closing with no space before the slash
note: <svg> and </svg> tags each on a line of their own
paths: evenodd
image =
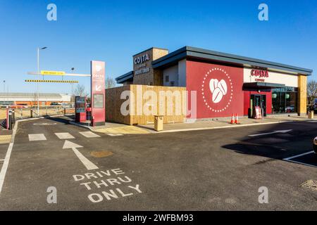
<svg viewBox="0 0 317 225">
<path fill-rule="evenodd" d="M 297 88 L 272 89 L 272 113 L 297 113 Z"/>
</svg>

